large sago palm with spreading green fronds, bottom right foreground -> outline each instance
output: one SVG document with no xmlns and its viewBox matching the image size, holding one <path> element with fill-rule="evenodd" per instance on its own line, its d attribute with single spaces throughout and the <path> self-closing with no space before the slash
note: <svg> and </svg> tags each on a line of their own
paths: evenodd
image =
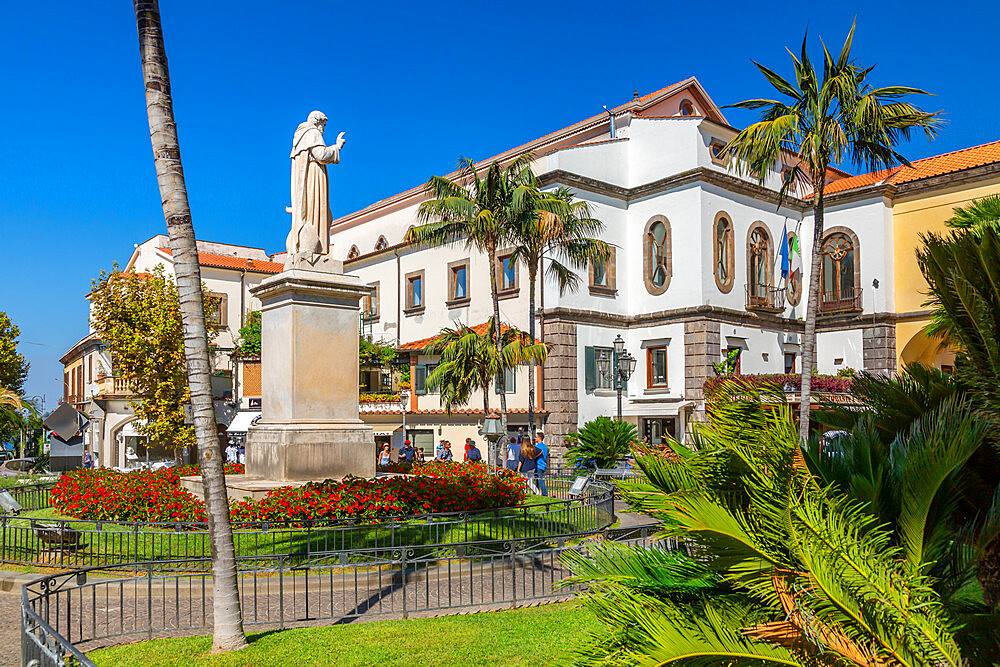
<svg viewBox="0 0 1000 667">
<path fill-rule="evenodd" d="M 589 587 L 586 603 L 610 626 L 573 664 L 965 664 L 930 578 L 801 465 L 780 392 L 747 397 L 727 382 L 708 408 L 692 446 L 671 441 L 679 461 L 640 456 L 649 483 L 622 485 L 695 564 L 637 547 L 570 556 L 570 581 Z"/>
</svg>

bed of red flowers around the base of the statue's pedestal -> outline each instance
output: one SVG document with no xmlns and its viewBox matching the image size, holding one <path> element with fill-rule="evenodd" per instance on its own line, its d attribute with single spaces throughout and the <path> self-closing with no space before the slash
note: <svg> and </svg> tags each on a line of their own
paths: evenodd
<svg viewBox="0 0 1000 667">
<path fill-rule="evenodd" d="M 228 474 L 238 474 L 226 466 Z M 243 472 L 242 466 L 239 473 Z M 413 476 L 374 480 L 348 477 L 304 487 L 283 487 L 260 501 L 242 500 L 230 508 L 236 523 L 303 522 L 339 518 L 459 512 L 511 507 L 524 502 L 526 488 L 508 471 L 489 475 L 485 466 L 432 462 Z M 179 486 L 179 478 L 198 474 L 197 466 L 156 472 L 120 473 L 76 470 L 52 490 L 52 504 L 79 519 L 103 521 L 204 521 L 205 505 Z"/>
</svg>

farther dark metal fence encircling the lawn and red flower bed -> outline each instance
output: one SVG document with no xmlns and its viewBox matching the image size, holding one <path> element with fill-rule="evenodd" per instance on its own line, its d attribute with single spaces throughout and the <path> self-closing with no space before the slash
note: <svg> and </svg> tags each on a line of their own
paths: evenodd
<svg viewBox="0 0 1000 667">
<path fill-rule="evenodd" d="M 558 538 L 594 533 L 614 521 L 614 488 L 596 482 L 570 497 L 572 479 L 552 477 L 555 502 L 481 512 L 437 513 L 372 520 L 242 524 L 234 531 L 237 558 L 308 562 L 317 553 L 482 540 Z M 48 567 L 129 563 L 201 563 L 211 555 L 205 523 L 94 522 L 0 517 L 0 562 Z"/>
</svg>

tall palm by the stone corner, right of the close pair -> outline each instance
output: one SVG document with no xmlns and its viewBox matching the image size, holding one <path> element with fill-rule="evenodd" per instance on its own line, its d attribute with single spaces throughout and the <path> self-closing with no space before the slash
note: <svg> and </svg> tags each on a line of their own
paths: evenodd
<svg viewBox="0 0 1000 667">
<path fill-rule="evenodd" d="M 535 183 L 534 175 L 530 181 Z M 513 261 L 528 267 L 528 335 L 535 340 L 535 289 L 543 260 L 548 259 L 548 275 L 559 285 L 559 293 L 575 290 L 580 278 L 573 270 L 586 268 L 590 261 L 607 262 L 611 246 L 594 235 L 604 230 L 604 223 L 591 216 L 585 201 L 573 201 L 567 188 L 542 192 L 537 185 L 526 190 L 529 199 L 523 205 L 514 230 Z M 566 262 L 565 264 L 563 262 Z M 528 427 L 535 437 L 535 364 L 529 363 Z"/>
</svg>

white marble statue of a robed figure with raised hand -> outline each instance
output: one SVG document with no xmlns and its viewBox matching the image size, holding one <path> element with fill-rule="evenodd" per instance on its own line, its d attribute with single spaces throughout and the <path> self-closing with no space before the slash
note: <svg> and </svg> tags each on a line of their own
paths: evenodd
<svg viewBox="0 0 1000 667">
<path fill-rule="evenodd" d="M 285 248 L 285 268 L 326 270 L 330 259 L 330 180 L 326 165 L 340 162 L 344 133 L 333 146 L 323 141 L 326 115 L 313 111 L 292 139 L 292 230 Z"/>
</svg>

